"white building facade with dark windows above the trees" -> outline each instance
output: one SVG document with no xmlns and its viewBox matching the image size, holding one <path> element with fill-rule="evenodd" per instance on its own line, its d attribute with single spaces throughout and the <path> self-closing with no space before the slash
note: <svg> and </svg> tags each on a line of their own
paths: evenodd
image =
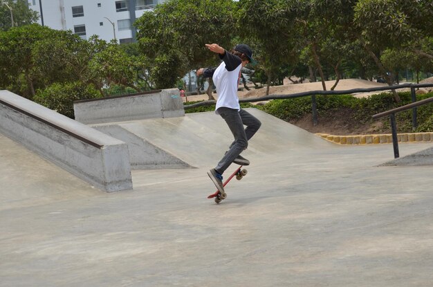
<svg viewBox="0 0 433 287">
<path fill-rule="evenodd" d="M 72 30 L 83 39 L 98 35 L 120 44 L 136 41 L 131 24 L 145 11 L 165 0 L 28 0 L 39 12 L 39 24 L 57 30 Z"/>
</svg>

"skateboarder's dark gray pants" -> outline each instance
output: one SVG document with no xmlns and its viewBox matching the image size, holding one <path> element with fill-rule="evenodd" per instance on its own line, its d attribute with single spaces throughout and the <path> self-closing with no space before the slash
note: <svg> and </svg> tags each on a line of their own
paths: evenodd
<svg viewBox="0 0 433 287">
<path fill-rule="evenodd" d="M 237 111 L 237 109 L 221 107 L 218 109 L 218 113 L 225 120 L 234 137 L 234 142 L 230 145 L 227 154 L 215 167 L 216 172 L 223 174 L 233 160 L 248 147 L 248 140 L 259 130 L 261 122 L 243 109 Z M 244 125 L 246 125 L 245 129 L 243 128 Z"/>
</svg>

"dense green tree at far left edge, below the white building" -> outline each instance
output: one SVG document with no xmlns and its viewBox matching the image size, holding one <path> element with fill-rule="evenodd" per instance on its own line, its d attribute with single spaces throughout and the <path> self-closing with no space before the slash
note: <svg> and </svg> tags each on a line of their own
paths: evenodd
<svg viewBox="0 0 433 287">
<path fill-rule="evenodd" d="M 55 82 L 88 82 L 89 62 L 103 46 L 71 31 L 38 24 L 0 32 L 0 86 L 32 99 Z"/>
</svg>

